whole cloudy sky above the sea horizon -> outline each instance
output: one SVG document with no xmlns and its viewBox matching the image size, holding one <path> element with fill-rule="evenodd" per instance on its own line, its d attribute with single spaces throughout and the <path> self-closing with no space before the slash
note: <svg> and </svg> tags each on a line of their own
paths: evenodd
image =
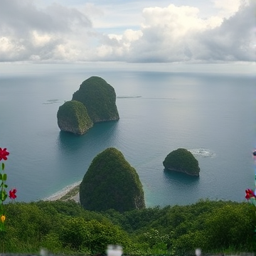
<svg viewBox="0 0 256 256">
<path fill-rule="evenodd" d="M 0 62 L 255 59 L 255 0 L 0 1 Z"/>
</svg>

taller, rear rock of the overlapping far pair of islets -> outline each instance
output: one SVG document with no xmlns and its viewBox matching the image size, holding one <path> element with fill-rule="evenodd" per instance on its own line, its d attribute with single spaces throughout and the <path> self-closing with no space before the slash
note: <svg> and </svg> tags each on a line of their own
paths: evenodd
<svg viewBox="0 0 256 256">
<path fill-rule="evenodd" d="M 119 119 L 114 88 L 100 77 L 92 76 L 82 82 L 72 100 L 85 105 L 93 123 Z"/>
</svg>

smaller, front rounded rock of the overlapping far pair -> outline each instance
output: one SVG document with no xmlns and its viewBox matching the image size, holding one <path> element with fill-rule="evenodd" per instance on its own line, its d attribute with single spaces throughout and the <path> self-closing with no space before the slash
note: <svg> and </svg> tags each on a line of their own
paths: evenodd
<svg viewBox="0 0 256 256">
<path fill-rule="evenodd" d="M 76 100 L 65 102 L 60 106 L 57 119 L 61 131 L 74 134 L 85 134 L 93 125 L 85 105 Z"/>
</svg>

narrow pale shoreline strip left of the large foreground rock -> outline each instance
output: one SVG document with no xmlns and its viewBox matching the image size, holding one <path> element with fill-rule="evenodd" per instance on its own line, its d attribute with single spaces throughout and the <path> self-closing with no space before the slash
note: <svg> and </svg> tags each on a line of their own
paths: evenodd
<svg viewBox="0 0 256 256">
<path fill-rule="evenodd" d="M 81 181 L 75 182 L 71 185 L 66 186 L 65 188 L 61 189 L 60 191 L 54 193 L 47 198 L 43 198 L 43 201 L 56 201 L 56 200 L 74 200 L 77 203 L 80 203 L 79 200 L 79 186 Z"/>
</svg>

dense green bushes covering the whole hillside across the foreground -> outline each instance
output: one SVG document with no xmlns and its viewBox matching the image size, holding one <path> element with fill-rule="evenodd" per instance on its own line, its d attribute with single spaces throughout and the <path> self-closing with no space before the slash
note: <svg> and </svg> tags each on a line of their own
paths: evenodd
<svg viewBox="0 0 256 256">
<path fill-rule="evenodd" d="M 84 210 L 75 201 L 6 205 L 1 251 L 94 255 L 119 244 L 126 255 L 194 255 L 255 251 L 252 206 L 198 201 L 189 206 L 144 208 L 119 213 Z M 4 246 L 4 248 L 3 248 Z"/>
</svg>

